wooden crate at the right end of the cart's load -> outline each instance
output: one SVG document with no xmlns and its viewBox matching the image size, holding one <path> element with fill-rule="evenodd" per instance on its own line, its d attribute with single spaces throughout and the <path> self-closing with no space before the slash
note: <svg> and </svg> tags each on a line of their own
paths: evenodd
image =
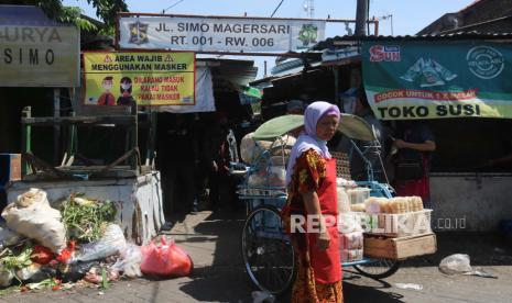
<svg viewBox="0 0 512 303">
<path fill-rule="evenodd" d="M 403 260 L 410 257 L 431 255 L 437 251 L 436 235 L 433 233 L 408 237 L 390 238 L 364 235 L 364 256 Z"/>
</svg>

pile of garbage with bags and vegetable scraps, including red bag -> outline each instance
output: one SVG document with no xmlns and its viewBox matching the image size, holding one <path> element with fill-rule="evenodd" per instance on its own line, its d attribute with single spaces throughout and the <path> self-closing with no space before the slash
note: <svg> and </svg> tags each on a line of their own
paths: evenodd
<svg viewBox="0 0 512 303">
<path fill-rule="evenodd" d="M 127 242 L 116 211 L 113 202 L 83 194 L 72 194 L 58 210 L 43 190 L 19 195 L 1 213 L 0 294 L 77 283 L 107 289 L 122 278 L 190 274 L 192 259 L 174 240 Z"/>
</svg>

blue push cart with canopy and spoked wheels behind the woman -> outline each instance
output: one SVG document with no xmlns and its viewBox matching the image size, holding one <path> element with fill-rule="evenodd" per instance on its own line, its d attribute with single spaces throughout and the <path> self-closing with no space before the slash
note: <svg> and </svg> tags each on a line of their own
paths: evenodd
<svg viewBox="0 0 512 303">
<path fill-rule="evenodd" d="M 303 125 L 302 115 L 284 115 L 262 124 L 253 135 L 258 141 L 273 141 L 270 149 L 260 155 L 257 165 L 249 167 L 246 180 L 251 173 L 268 165 L 272 155 L 284 155 L 282 136 Z M 380 144 L 373 130 L 362 119 L 342 114 L 338 130 L 347 137 L 353 149 L 367 164 L 368 179 L 357 182 L 360 187 L 370 189 L 371 197 L 393 197 L 393 190 L 388 183 L 380 183 L 373 179 L 373 170 L 368 160 L 368 153 L 378 153 Z M 366 142 L 359 148 L 355 141 Z M 270 168 L 266 168 L 270 169 Z M 247 273 L 257 288 L 279 295 L 288 290 L 295 277 L 295 255 L 288 236 L 283 231 L 281 209 L 286 202 L 286 189 L 273 187 L 269 182 L 261 187 L 249 186 L 247 182 L 239 187 L 239 199 L 247 202 L 247 218 L 241 235 L 241 252 Z M 386 278 L 400 267 L 400 261 L 391 259 L 370 259 L 344 262 L 345 267 L 353 267 L 363 276 L 382 279 Z"/>
</svg>

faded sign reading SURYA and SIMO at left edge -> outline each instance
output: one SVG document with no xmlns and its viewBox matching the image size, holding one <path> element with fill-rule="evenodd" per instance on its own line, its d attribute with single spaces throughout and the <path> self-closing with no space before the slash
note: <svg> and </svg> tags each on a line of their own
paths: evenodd
<svg viewBox="0 0 512 303">
<path fill-rule="evenodd" d="M 79 86 L 79 32 L 74 26 L 0 25 L 0 83 Z"/>
</svg>

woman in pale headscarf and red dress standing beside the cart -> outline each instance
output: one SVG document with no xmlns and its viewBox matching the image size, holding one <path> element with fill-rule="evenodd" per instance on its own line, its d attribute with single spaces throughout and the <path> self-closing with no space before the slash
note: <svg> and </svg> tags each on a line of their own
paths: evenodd
<svg viewBox="0 0 512 303">
<path fill-rule="evenodd" d="M 297 256 L 292 302 L 342 302 L 337 228 L 336 159 L 327 148 L 339 123 L 338 106 L 314 102 L 305 110 L 305 131 L 286 169 L 288 199 L 282 217 Z M 294 216 L 313 215 L 319 229 L 293 229 Z M 307 221 L 306 221 L 307 222 Z M 329 223 L 329 224 L 327 224 Z"/>
</svg>

